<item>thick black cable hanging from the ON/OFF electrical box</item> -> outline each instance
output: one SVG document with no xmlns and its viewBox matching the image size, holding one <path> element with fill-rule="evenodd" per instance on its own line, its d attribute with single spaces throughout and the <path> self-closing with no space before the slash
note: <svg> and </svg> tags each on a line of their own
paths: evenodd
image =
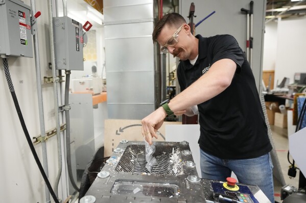
<svg viewBox="0 0 306 203">
<path fill-rule="evenodd" d="M 13 82 L 12 82 L 12 79 L 11 79 L 11 75 L 10 75 L 10 71 L 9 71 L 9 64 L 8 64 L 8 59 L 7 57 L 4 57 L 2 56 L 2 59 L 3 59 L 3 67 L 4 67 L 4 72 L 5 72 L 5 76 L 6 76 L 6 79 L 7 79 L 7 82 L 8 82 L 8 85 L 9 85 L 9 89 L 10 89 L 10 92 L 11 92 L 11 95 L 12 95 L 12 98 L 13 98 L 13 101 L 14 101 L 14 104 L 15 104 L 15 108 L 16 108 L 16 111 L 17 111 L 17 114 L 18 114 L 18 118 L 19 118 L 19 121 L 20 121 L 20 124 L 21 124 L 21 127 L 23 129 L 23 132 L 25 133 L 26 135 L 26 138 L 27 138 L 27 141 L 28 141 L 28 144 L 29 144 L 29 147 L 32 151 L 32 154 L 34 156 L 34 159 L 36 161 L 36 164 L 40 170 L 40 173 L 42 175 L 42 178 L 46 184 L 46 186 L 48 187 L 54 201 L 56 203 L 59 203 L 52 187 L 51 187 L 51 184 L 48 180 L 48 177 L 45 175 L 45 172 L 43 170 L 43 167 L 39 161 L 39 158 L 37 156 L 37 153 L 35 151 L 35 148 L 33 146 L 33 143 L 32 143 L 32 140 L 31 140 L 31 137 L 30 137 L 30 134 L 28 132 L 28 129 L 27 129 L 27 126 L 26 126 L 26 123 L 25 123 L 25 120 L 23 120 L 23 117 L 22 117 L 22 113 L 21 113 L 21 109 L 19 107 L 19 103 L 18 103 L 18 100 L 17 100 L 17 97 L 16 97 L 16 94 L 15 94 L 15 90 L 14 90 L 14 86 L 13 86 Z"/>
</svg>

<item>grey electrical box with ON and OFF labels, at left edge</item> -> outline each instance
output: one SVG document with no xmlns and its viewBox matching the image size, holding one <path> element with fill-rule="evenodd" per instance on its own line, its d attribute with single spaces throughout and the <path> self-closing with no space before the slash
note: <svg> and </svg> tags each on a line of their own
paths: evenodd
<svg viewBox="0 0 306 203">
<path fill-rule="evenodd" d="M 0 55 L 33 57 L 30 12 L 19 0 L 0 1 Z"/>
</svg>

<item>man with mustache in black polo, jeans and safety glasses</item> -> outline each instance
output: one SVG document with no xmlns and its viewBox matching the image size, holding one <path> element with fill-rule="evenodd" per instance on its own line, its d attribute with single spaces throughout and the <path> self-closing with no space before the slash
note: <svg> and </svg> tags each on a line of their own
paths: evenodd
<svg viewBox="0 0 306 203">
<path fill-rule="evenodd" d="M 257 185 L 274 202 L 272 146 L 252 70 L 236 39 L 193 36 L 177 13 L 160 19 L 152 35 L 160 51 L 180 59 L 181 93 L 142 120 L 145 139 L 152 144 L 167 115 L 198 110 L 202 178 L 225 181 L 233 171 L 240 183 Z"/>
</svg>

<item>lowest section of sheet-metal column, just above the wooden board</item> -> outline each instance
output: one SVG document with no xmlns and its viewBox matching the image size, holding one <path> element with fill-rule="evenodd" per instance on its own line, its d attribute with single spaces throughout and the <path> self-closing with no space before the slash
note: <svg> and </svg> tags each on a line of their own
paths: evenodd
<svg viewBox="0 0 306 203">
<path fill-rule="evenodd" d="M 154 104 L 108 104 L 109 119 L 140 120 L 154 111 Z"/>
</svg>

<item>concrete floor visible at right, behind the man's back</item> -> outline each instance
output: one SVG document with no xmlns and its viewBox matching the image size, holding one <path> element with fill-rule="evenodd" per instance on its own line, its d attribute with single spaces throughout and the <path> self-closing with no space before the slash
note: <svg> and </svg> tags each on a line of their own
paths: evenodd
<svg viewBox="0 0 306 203">
<path fill-rule="evenodd" d="M 271 125 L 271 131 L 274 139 L 275 150 L 278 156 L 281 171 L 283 171 L 284 179 L 287 185 L 294 186 L 298 188 L 299 170 L 297 170 L 297 175 L 295 178 L 290 178 L 288 176 L 288 168 L 290 163 L 287 159 L 289 141 L 288 141 L 288 130 L 287 128 L 280 128 Z M 290 156 L 290 161 L 292 162 L 292 157 Z M 282 185 L 274 179 L 274 197 L 275 202 L 282 202 L 280 200 L 280 190 Z"/>
</svg>

